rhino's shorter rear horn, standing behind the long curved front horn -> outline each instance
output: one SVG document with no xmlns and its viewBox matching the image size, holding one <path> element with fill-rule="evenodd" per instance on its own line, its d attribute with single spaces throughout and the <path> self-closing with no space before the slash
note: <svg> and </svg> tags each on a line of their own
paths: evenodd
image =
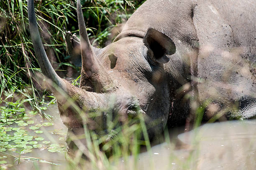
<svg viewBox="0 0 256 170">
<path fill-rule="evenodd" d="M 82 7 L 80 0 L 77 0 L 77 19 L 79 35 L 81 41 L 82 69 L 92 81 L 96 92 L 109 91 L 114 87 L 113 80 L 108 75 L 107 70 L 97 59 L 93 47 L 87 35 Z"/>
</svg>

